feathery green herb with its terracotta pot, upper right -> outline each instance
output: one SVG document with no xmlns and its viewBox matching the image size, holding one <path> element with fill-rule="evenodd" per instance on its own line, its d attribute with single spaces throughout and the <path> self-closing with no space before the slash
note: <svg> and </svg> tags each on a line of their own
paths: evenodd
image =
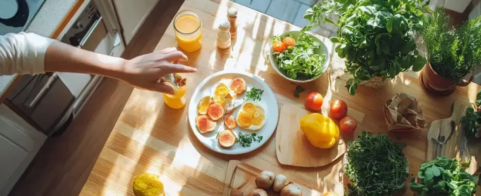
<svg viewBox="0 0 481 196">
<path fill-rule="evenodd" d="M 426 43 L 428 66 L 421 81 L 428 92 L 446 96 L 456 86 L 467 86 L 463 78 L 481 64 L 481 17 L 454 29 L 444 10 L 437 10 L 433 20 L 422 30 Z"/>
</svg>

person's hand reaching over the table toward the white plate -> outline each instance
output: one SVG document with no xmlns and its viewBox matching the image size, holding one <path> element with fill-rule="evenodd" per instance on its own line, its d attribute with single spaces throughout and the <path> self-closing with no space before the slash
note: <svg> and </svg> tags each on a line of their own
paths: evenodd
<svg viewBox="0 0 481 196">
<path fill-rule="evenodd" d="M 124 63 L 124 74 L 119 78 L 132 86 L 150 91 L 174 94 L 174 89 L 159 84 L 160 77 L 169 73 L 193 73 L 197 69 L 177 64 L 187 61 L 187 56 L 176 48 L 166 48 L 150 54 L 137 56 Z"/>
</svg>

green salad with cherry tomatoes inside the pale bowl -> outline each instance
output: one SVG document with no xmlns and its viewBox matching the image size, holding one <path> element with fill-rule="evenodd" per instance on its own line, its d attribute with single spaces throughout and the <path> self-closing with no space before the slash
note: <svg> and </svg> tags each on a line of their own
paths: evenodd
<svg viewBox="0 0 481 196">
<path fill-rule="evenodd" d="M 306 80 L 323 73 L 326 56 L 315 52 L 321 48 L 321 43 L 306 34 L 308 30 L 309 26 L 302 28 L 295 40 L 291 34 L 271 39 L 274 49 L 272 56 L 279 69 L 291 79 Z"/>
</svg>

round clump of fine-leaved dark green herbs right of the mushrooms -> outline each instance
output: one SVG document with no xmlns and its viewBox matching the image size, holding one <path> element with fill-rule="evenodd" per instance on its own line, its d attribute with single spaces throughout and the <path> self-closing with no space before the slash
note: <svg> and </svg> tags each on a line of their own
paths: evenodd
<svg viewBox="0 0 481 196">
<path fill-rule="evenodd" d="M 347 196 L 391 196 L 405 190 L 407 159 L 387 135 L 359 134 L 348 144 L 346 156 L 344 173 L 352 182 Z"/>
</svg>

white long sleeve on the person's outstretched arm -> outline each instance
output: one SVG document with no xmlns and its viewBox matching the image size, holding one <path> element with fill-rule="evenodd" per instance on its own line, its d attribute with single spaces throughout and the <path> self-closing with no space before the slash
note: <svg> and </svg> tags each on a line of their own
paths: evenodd
<svg viewBox="0 0 481 196">
<path fill-rule="evenodd" d="M 0 35 L 0 75 L 45 73 L 45 53 L 53 41 L 34 33 Z"/>
</svg>

